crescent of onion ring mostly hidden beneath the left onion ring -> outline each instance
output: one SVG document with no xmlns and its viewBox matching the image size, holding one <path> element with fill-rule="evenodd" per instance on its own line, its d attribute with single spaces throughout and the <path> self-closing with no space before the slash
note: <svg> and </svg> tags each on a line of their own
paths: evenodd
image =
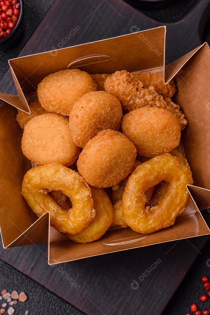
<svg viewBox="0 0 210 315">
<path fill-rule="evenodd" d="M 106 192 L 102 188 L 90 188 L 96 216 L 81 232 L 75 235 L 66 234 L 69 239 L 76 243 L 96 241 L 108 230 L 113 221 L 113 207 Z"/>
</svg>

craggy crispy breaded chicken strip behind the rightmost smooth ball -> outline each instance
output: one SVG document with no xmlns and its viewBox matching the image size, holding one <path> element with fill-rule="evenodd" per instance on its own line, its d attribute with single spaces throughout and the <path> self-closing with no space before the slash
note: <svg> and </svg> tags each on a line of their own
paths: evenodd
<svg viewBox="0 0 210 315">
<path fill-rule="evenodd" d="M 108 77 L 104 88 L 106 92 L 118 98 L 122 108 L 127 112 L 144 106 L 159 107 L 173 112 L 181 129 L 184 129 L 187 124 L 179 105 L 173 103 L 169 98 L 164 100 L 163 96 L 155 92 L 152 86 L 148 89 L 144 88 L 143 84 L 126 70 L 117 71 Z"/>
</svg>

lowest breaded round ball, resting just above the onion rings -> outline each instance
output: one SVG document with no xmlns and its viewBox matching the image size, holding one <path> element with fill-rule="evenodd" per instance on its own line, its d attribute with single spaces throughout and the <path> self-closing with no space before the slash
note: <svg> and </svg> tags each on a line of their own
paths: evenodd
<svg viewBox="0 0 210 315">
<path fill-rule="evenodd" d="M 88 184 L 105 188 L 116 185 L 130 173 L 135 157 L 134 144 L 122 133 L 107 129 L 88 141 L 77 167 Z"/>
</svg>

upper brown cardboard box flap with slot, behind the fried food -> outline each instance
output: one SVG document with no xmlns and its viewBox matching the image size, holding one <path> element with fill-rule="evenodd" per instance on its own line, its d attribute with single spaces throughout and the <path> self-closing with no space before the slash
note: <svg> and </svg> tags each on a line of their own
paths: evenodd
<svg viewBox="0 0 210 315">
<path fill-rule="evenodd" d="M 50 73 L 67 69 L 69 65 L 75 67 L 78 62 L 77 67 L 89 73 L 113 73 L 122 68 L 134 72 L 163 66 L 165 33 L 165 26 L 161 26 L 58 49 L 56 52 L 49 51 L 9 60 L 14 80 L 16 83 L 19 82 L 16 87 L 18 95 L 24 103 L 24 108 L 26 109 L 27 106 L 23 94 L 35 93 L 38 83 L 44 77 Z M 89 58 L 88 63 L 86 57 Z M 93 57 L 95 60 L 91 61 Z M 94 63 L 92 63 L 93 61 Z"/>
</svg>

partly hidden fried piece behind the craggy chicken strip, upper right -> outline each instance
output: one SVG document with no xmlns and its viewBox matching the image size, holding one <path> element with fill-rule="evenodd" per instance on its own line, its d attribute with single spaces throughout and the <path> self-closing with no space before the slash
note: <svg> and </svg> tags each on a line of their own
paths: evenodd
<svg viewBox="0 0 210 315">
<path fill-rule="evenodd" d="M 153 86 L 155 91 L 163 97 L 171 98 L 176 92 L 174 80 L 170 80 L 169 83 L 164 84 L 163 73 L 161 72 L 136 72 L 132 73 L 133 76 L 141 81 L 145 88 Z"/>
</svg>

